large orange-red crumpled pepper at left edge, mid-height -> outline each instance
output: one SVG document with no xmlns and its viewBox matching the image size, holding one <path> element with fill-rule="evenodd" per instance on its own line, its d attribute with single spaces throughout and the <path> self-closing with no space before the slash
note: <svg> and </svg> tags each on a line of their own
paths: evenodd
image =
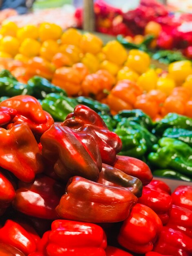
<svg viewBox="0 0 192 256">
<path fill-rule="evenodd" d="M 0 166 L 11 171 L 18 179 L 31 182 L 36 173 L 43 171 L 43 163 L 29 126 L 22 123 L 13 124 L 9 130 L 0 128 L 0 136 Z"/>
</svg>

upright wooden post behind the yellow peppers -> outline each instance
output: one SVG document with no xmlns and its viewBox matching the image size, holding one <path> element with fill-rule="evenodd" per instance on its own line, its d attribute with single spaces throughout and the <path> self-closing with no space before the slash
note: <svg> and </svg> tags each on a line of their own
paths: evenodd
<svg viewBox="0 0 192 256">
<path fill-rule="evenodd" d="M 83 29 L 85 31 L 95 31 L 94 1 L 83 0 Z"/>
</svg>

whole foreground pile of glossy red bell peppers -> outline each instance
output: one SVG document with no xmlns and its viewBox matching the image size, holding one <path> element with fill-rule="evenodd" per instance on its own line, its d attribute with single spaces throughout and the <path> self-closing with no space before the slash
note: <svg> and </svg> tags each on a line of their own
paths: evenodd
<svg viewBox="0 0 192 256">
<path fill-rule="evenodd" d="M 78 105 L 63 123 L 31 96 L 0 103 L 1 256 L 191 256 L 192 186 L 172 194 Z"/>
</svg>

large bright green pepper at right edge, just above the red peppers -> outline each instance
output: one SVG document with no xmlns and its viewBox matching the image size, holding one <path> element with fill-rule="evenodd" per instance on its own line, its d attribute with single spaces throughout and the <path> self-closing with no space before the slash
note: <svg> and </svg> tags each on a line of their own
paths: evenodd
<svg viewBox="0 0 192 256">
<path fill-rule="evenodd" d="M 151 164 L 159 168 L 172 168 L 175 171 L 192 177 L 192 148 L 177 139 L 163 137 L 153 146 L 148 155 Z"/>
</svg>

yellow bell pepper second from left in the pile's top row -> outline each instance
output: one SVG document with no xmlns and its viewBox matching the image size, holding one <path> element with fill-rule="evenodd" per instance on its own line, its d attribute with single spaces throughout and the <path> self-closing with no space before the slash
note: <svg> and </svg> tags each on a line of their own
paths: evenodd
<svg viewBox="0 0 192 256">
<path fill-rule="evenodd" d="M 25 25 L 17 31 L 17 38 L 22 42 L 25 38 L 38 38 L 38 27 L 35 25 Z"/>
</svg>

